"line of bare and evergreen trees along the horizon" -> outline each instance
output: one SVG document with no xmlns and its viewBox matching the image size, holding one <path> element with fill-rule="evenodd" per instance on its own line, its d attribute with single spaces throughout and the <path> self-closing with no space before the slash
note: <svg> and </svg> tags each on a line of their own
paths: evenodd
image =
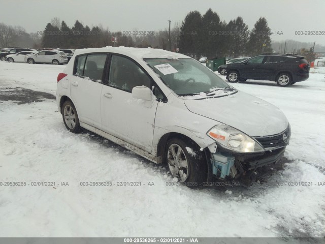
<svg viewBox="0 0 325 244">
<path fill-rule="evenodd" d="M 249 29 L 242 17 L 228 23 L 209 9 L 204 15 L 199 11 L 186 14 L 181 24 L 171 28 L 171 50 L 193 57 L 252 56 L 272 52 L 271 29 L 267 20 L 260 17 Z M 118 42 L 111 41 L 116 37 Z M 76 20 L 69 27 L 59 18 L 53 18 L 43 31 L 28 34 L 20 26 L 0 23 L 0 46 L 24 46 L 33 48 L 87 48 L 104 46 L 152 47 L 169 49 L 169 31 L 111 32 L 102 25 L 89 27 Z M 278 47 L 278 46 L 277 46 Z M 278 50 L 275 50 L 278 51 Z"/>
</svg>

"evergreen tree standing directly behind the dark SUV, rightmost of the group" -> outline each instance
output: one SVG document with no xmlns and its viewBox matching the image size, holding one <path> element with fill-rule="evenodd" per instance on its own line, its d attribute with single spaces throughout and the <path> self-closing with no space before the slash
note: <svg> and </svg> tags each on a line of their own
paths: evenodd
<svg viewBox="0 0 325 244">
<path fill-rule="evenodd" d="M 271 28 L 268 26 L 266 18 L 259 18 L 249 35 L 247 45 L 248 53 L 250 55 L 255 55 L 264 52 L 272 52 L 271 35 Z"/>
</svg>

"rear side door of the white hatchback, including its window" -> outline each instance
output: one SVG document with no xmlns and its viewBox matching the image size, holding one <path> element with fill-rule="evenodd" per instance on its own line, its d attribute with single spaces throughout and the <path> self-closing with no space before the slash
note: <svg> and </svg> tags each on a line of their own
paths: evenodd
<svg viewBox="0 0 325 244">
<path fill-rule="evenodd" d="M 81 122 L 101 129 L 101 92 L 107 53 L 76 57 L 70 95 Z"/>
</svg>

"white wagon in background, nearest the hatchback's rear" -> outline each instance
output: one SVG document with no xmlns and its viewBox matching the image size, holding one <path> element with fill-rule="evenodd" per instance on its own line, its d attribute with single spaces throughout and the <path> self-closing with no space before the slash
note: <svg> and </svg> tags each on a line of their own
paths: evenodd
<svg viewBox="0 0 325 244">
<path fill-rule="evenodd" d="M 24 57 L 28 64 L 53 64 L 62 65 L 68 63 L 66 53 L 57 50 L 43 50 L 34 54 L 29 54 Z"/>
</svg>

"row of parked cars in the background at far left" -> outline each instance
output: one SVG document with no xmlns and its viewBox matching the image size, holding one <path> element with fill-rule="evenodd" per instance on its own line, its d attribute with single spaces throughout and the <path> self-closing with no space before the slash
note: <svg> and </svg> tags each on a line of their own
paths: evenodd
<svg viewBox="0 0 325 244">
<path fill-rule="evenodd" d="M 8 51 L 7 51 L 8 50 Z M 1 51 L 1 50 L 0 50 Z M 74 49 L 38 49 L 9 48 L 2 49 L 0 59 L 10 63 L 22 62 L 28 64 L 67 64 L 73 56 Z"/>
</svg>

